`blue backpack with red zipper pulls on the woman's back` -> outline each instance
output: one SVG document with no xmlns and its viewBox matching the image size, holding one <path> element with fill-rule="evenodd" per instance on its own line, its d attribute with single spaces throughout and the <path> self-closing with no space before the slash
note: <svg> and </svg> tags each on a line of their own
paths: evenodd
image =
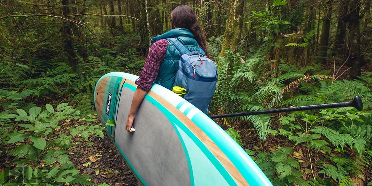
<svg viewBox="0 0 372 186">
<path fill-rule="evenodd" d="M 203 49 L 190 52 L 176 38 L 168 38 L 181 53 L 173 86 L 186 89 L 183 96 L 188 102 L 208 115 L 217 83 L 217 66 L 205 56 Z"/>
</svg>

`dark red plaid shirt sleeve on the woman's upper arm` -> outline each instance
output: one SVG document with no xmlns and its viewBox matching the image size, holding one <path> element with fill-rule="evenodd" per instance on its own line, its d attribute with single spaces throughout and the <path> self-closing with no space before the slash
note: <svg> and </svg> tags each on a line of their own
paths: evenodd
<svg viewBox="0 0 372 186">
<path fill-rule="evenodd" d="M 167 48 L 168 41 L 166 39 L 160 39 L 151 46 L 140 78 L 136 80 L 140 89 L 149 91 L 153 86 L 159 73 L 160 64 L 164 61 Z"/>
</svg>

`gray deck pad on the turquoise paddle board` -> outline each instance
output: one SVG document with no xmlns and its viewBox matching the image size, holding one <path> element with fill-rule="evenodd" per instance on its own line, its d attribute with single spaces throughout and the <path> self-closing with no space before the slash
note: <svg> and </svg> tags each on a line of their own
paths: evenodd
<svg viewBox="0 0 372 186">
<path fill-rule="evenodd" d="M 182 143 L 166 116 L 144 100 L 135 116 L 136 131 L 125 130 L 134 92 L 123 87 L 117 108 L 115 142 L 132 169 L 146 185 L 190 184 L 190 171 Z M 167 158 L 164 158 L 167 157 Z"/>
</svg>

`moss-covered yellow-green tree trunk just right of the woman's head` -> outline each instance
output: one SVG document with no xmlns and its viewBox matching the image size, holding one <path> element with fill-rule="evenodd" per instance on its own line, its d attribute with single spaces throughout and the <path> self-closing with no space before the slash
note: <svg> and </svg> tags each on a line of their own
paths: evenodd
<svg viewBox="0 0 372 186">
<path fill-rule="evenodd" d="M 228 49 L 236 50 L 241 38 L 241 29 L 243 28 L 243 0 L 230 0 L 229 16 L 226 23 L 224 39 L 222 40 L 222 49 L 220 56 L 225 56 Z"/>
</svg>

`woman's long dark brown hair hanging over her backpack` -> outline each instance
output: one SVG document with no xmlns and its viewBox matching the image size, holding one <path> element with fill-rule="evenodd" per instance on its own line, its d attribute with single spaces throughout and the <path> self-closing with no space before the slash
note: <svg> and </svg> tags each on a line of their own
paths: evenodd
<svg viewBox="0 0 372 186">
<path fill-rule="evenodd" d="M 207 50 L 206 39 L 204 33 L 200 29 L 198 20 L 194 11 L 186 5 L 177 6 L 170 13 L 172 17 L 171 27 L 186 28 L 194 35 L 194 39 L 198 42 L 199 46 L 205 51 L 205 55 L 209 57 Z"/>
</svg>

